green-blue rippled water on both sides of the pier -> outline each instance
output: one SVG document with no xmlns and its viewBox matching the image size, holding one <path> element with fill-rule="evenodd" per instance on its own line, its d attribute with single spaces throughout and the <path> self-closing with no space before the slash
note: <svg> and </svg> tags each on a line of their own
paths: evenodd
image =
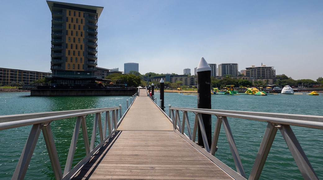
<svg viewBox="0 0 323 180">
<path fill-rule="evenodd" d="M 34 112 L 61 111 L 73 109 L 112 107 L 122 105 L 126 111 L 127 99 L 130 96 L 101 97 L 31 97 L 30 93 L 0 93 L 0 115 L 23 114 Z M 155 92 L 159 100 L 159 93 Z M 159 104 L 159 102 L 158 102 Z M 165 112 L 168 105 L 173 107 L 197 107 L 196 95 L 165 93 Z M 259 111 L 273 113 L 290 113 L 306 115 L 323 115 L 323 95 L 212 95 L 212 108 L 225 110 Z M 193 122 L 193 115 L 190 115 Z M 92 121 L 88 117 L 88 132 L 91 134 Z M 52 122 L 51 127 L 56 141 L 59 160 L 65 165 L 70 139 L 73 134 L 75 119 Z M 213 117 L 212 123 L 215 123 Z M 255 156 L 265 132 L 267 123 L 229 118 L 234 140 L 236 142 L 244 170 L 248 176 L 251 172 Z M 31 126 L 0 131 L 0 177 L 11 179 L 20 153 L 25 145 Z M 213 127 L 214 129 L 214 127 Z M 292 126 L 309 161 L 320 179 L 323 178 L 322 131 Z M 80 136 L 81 137 L 81 136 Z M 84 153 L 82 139 L 78 140 L 74 165 L 80 161 Z M 216 157 L 235 170 L 232 155 L 223 128 L 221 129 L 219 150 Z M 62 167 L 64 170 L 64 167 Z M 40 135 L 38 143 L 27 170 L 25 179 L 53 179 L 51 164 L 47 154 L 44 138 Z M 303 179 L 280 132 L 277 132 L 274 144 L 268 155 L 261 179 Z"/>
</svg>

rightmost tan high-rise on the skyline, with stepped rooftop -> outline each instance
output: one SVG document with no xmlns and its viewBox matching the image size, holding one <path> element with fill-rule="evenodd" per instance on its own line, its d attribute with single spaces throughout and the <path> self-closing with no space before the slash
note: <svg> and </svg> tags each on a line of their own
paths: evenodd
<svg viewBox="0 0 323 180">
<path fill-rule="evenodd" d="M 276 70 L 274 69 L 274 67 L 266 65 L 257 67 L 255 65 L 251 65 L 251 67 L 245 68 L 245 76 L 255 79 L 274 79 L 276 78 Z"/>
</svg>

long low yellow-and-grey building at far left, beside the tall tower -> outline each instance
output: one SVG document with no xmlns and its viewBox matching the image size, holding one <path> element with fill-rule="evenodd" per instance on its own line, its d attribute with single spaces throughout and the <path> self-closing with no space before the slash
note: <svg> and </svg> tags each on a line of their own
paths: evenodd
<svg viewBox="0 0 323 180">
<path fill-rule="evenodd" d="M 38 71 L 26 71 L 19 69 L 8 69 L 0 67 L 0 84 L 12 85 L 12 83 L 23 83 L 29 86 L 31 82 L 45 77 L 50 77 L 51 73 L 44 73 Z"/>
</svg>

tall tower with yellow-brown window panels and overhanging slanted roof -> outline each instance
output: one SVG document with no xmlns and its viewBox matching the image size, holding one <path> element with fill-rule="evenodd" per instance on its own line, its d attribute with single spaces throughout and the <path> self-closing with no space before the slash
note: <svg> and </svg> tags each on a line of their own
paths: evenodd
<svg viewBox="0 0 323 180">
<path fill-rule="evenodd" d="M 52 81 L 93 81 L 98 65 L 98 19 L 103 7 L 54 1 L 47 4 L 52 13 Z"/>
</svg>

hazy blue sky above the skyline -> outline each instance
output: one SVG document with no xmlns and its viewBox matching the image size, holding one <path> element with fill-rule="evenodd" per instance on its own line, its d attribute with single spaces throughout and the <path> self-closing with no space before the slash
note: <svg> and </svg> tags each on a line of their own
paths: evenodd
<svg viewBox="0 0 323 180">
<path fill-rule="evenodd" d="M 194 74 L 208 63 L 273 66 L 293 79 L 323 76 L 323 1 L 93 0 L 98 66 L 123 71 Z M 50 71 L 51 13 L 45 0 L 2 1 L 0 67 Z"/>
</svg>

